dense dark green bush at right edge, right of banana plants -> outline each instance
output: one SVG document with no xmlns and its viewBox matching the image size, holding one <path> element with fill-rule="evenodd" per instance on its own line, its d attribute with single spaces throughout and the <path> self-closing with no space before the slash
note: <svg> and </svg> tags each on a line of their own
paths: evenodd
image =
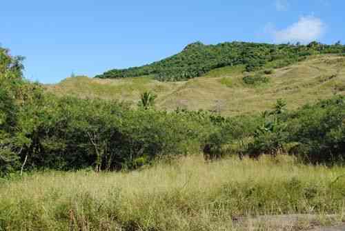
<svg viewBox="0 0 345 231">
<path fill-rule="evenodd" d="M 345 99 L 335 97 L 304 106 L 286 119 L 292 154 L 306 161 L 333 163 L 345 159 Z"/>
</svg>

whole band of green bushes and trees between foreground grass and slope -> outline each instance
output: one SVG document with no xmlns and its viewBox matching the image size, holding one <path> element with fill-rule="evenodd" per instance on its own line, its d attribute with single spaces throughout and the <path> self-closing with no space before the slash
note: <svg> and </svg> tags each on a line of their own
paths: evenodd
<svg viewBox="0 0 345 231">
<path fill-rule="evenodd" d="M 278 100 L 262 116 L 222 117 L 204 110 L 155 110 L 155 94 L 144 92 L 141 107 L 132 109 L 118 101 L 55 97 L 22 79 L 21 58 L 7 50 L 1 57 L 1 175 L 135 169 L 202 150 L 210 159 L 282 152 L 309 163 L 344 159 L 343 97 L 293 111 Z"/>
</svg>

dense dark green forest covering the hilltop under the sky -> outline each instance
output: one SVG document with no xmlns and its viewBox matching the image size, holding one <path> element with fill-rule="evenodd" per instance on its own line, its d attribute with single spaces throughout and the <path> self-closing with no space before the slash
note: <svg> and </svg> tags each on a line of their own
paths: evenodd
<svg viewBox="0 0 345 231">
<path fill-rule="evenodd" d="M 204 45 L 196 42 L 167 59 L 141 67 L 108 70 L 96 77 L 116 79 L 150 74 L 159 81 L 181 81 L 200 77 L 210 70 L 224 66 L 244 65 L 246 71 L 253 71 L 268 63 L 273 68 L 288 66 L 296 61 L 304 60 L 311 54 L 343 53 L 345 53 L 345 46 L 339 42 L 335 45 L 325 45 L 314 41 L 306 46 L 299 43 L 275 45 L 232 42 Z"/>
</svg>

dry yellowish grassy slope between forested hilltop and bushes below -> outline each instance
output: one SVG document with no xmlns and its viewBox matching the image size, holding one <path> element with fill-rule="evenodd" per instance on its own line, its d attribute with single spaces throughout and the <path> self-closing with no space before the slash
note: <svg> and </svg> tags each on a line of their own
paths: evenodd
<svg viewBox="0 0 345 231">
<path fill-rule="evenodd" d="M 269 68 L 269 67 L 267 67 Z M 244 85 L 244 67 L 212 70 L 204 77 L 181 82 L 159 82 L 152 77 L 128 79 L 68 78 L 47 86 L 58 95 L 99 97 L 130 101 L 135 105 L 141 92 L 158 94 L 157 107 L 173 110 L 218 110 L 224 115 L 242 114 L 270 109 L 279 98 L 288 108 L 297 108 L 317 99 L 345 93 L 345 57 L 319 55 L 293 66 L 276 69 L 270 83 L 250 87 Z"/>
</svg>

